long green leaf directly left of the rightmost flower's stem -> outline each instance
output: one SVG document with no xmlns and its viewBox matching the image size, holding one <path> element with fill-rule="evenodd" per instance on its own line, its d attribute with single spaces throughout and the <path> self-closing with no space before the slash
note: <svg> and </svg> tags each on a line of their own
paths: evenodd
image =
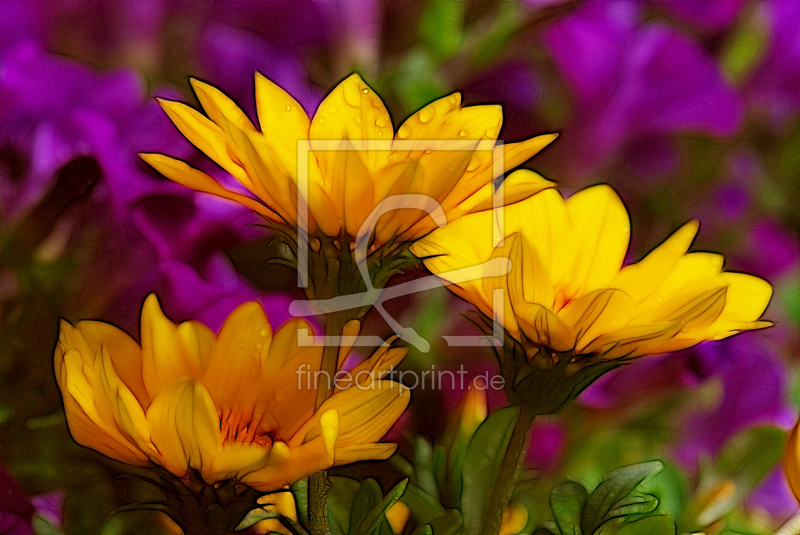
<svg viewBox="0 0 800 535">
<path fill-rule="evenodd" d="M 488 498 L 500 472 L 519 407 L 504 407 L 493 412 L 475 431 L 469 443 L 461 491 L 461 513 L 464 516 L 465 535 L 480 531 Z"/>
</svg>

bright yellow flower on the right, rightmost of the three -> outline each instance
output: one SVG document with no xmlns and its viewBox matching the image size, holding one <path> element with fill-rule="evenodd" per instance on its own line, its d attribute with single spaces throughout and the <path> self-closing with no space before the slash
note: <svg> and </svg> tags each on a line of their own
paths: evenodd
<svg viewBox="0 0 800 535">
<path fill-rule="evenodd" d="M 534 346 L 604 359 L 683 349 L 759 321 L 772 288 L 743 273 L 722 271 L 723 258 L 689 253 L 698 230 L 689 222 L 640 262 L 623 267 L 630 219 L 613 189 L 600 185 L 567 200 L 546 190 L 504 209 L 505 239 L 492 246 L 491 212 L 469 215 L 416 242 L 412 252 L 432 272 L 507 257 L 507 276 L 450 288 Z M 440 256 L 436 256 L 440 255 Z"/>
</svg>

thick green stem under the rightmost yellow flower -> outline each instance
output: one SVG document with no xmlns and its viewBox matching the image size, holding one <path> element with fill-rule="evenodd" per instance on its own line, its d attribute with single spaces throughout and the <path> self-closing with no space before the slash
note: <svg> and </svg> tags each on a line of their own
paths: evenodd
<svg viewBox="0 0 800 535">
<path fill-rule="evenodd" d="M 520 406 L 519 418 L 514 425 L 511 441 L 503 457 L 500 473 L 495 480 L 489 508 L 486 510 L 486 519 L 483 523 L 482 535 L 497 535 L 503 524 L 503 511 L 508 508 L 511 494 L 519 479 L 522 463 L 528 451 L 528 442 L 531 434 L 531 425 L 536 418 L 536 413 L 525 406 Z"/>
</svg>

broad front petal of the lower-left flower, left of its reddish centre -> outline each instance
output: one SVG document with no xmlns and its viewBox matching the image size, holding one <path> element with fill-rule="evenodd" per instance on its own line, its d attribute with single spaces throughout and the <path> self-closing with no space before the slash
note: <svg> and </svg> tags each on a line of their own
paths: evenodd
<svg viewBox="0 0 800 535">
<path fill-rule="evenodd" d="M 186 378 L 153 399 L 147 410 L 159 464 L 177 476 L 188 468 L 200 470 L 222 449 L 220 423 L 205 387 Z"/>
</svg>

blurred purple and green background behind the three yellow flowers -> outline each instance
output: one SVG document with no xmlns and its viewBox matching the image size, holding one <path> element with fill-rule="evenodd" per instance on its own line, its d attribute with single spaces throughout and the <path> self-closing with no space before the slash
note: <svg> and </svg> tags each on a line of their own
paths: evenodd
<svg viewBox="0 0 800 535">
<path fill-rule="evenodd" d="M 219 173 L 152 97 L 196 103 L 192 75 L 252 114 L 256 70 L 309 113 L 358 71 L 395 126 L 461 91 L 503 105 L 505 141 L 560 132 L 526 166 L 567 192 L 612 184 L 631 213 L 631 260 L 698 218 L 695 249 L 774 285 L 776 326 L 642 360 L 538 422 L 528 463 L 542 518 L 553 484 L 653 458 L 681 526 L 770 533 L 794 514 L 772 431 L 800 406 L 797 0 L 0 0 L 0 531 L 167 529 L 114 512 L 146 492 L 70 438 L 52 369 L 59 317 L 136 333 L 157 291 L 176 320 L 216 328 L 249 299 L 286 319 L 292 297 L 276 280 L 292 279 L 259 277 L 253 216 L 136 157 Z M 434 342 L 406 367 L 493 369 L 485 351 L 441 341 L 468 329 L 446 291 L 390 310 Z M 367 328 L 388 334 L 375 318 Z M 401 452 L 413 433 L 435 439 L 459 396 L 416 391 L 393 434 Z M 391 484 L 382 470 L 351 472 Z"/>
</svg>

